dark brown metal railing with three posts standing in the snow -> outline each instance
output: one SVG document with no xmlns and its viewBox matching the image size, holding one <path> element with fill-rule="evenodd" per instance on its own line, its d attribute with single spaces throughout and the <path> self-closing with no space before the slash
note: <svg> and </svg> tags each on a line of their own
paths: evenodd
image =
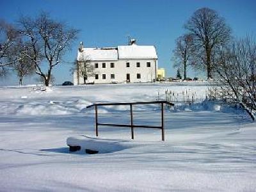
<svg viewBox="0 0 256 192">
<path fill-rule="evenodd" d="M 133 123 L 133 111 L 132 106 L 134 105 L 143 105 L 143 104 L 161 104 L 161 125 L 159 126 L 152 126 L 152 125 L 134 125 Z M 90 106 L 87 106 L 86 108 L 92 108 L 95 107 L 95 133 L 96 136 L 99 136 L 99 125 L 101 126 L 111 126 L 111 127 L 131 127 L 131 134 L 132 134 L 132 140 L 134 139 L 134 128 L 146 128 L 146 129 L 161 129 L 162 134 L 162 141 L 164 141 L 164 104 L 168 104 L 170 106 L 174 106 L 173 103 L 167 102 L 167 101 L 152 101 L 152 102 L 115 102 L 115 103 L 96 103 L 92 104 Z M 98 107 L 99 106 L 130 106 L 130 117 L 131 117 L 131 124 L 100 124 L 98 122 Z"/>
</svg>

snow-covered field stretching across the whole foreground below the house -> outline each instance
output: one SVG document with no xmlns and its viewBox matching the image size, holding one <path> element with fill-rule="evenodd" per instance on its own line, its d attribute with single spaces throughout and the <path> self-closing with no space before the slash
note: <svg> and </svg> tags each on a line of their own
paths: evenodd
<svg viewBox="0 0 256 192">
<path fill-rule="evenodd" d="M 205 83 L 0 87 L 0 191 L 256 191 L 256 124 L 238 109 L 166 108 L 164 142 L 141 128 L 134 140 L 121 127 L 99 127 L 94 138 L 86 106 L 164 99 L 166 89 L 207 93 Z M 134 124 L 159 125 L 159 109 L 136 106 Z M 101 107 L 99 121 L 129 124 L 129 110 Z M 69 136 L 111 147 L 70 153 Z"/>
</svg>

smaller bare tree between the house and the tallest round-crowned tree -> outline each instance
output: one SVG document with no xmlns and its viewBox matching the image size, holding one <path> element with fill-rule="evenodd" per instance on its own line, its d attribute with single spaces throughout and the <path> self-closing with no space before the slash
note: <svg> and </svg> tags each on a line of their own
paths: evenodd
<svg viewBox="0 0 256 192">
<path fill-rule="evenodd" d="M 184 80 L 187 78 L 187 68 L 191 65 L 191 54 L 193 54 L 193 36 L 179 36 L 175 41 L 176 47 L 173 50 L 174 67 L 184 73 Z"/>
</svg>

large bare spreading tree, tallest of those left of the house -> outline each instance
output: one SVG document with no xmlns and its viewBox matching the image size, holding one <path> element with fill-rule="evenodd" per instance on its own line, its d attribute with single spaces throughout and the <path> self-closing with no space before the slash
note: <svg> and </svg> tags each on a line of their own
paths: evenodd
<svg viewBox="0 0 256 192">
<path fill-rule="evenodd" d="M 44 79 L 45 86 L 51 82 L 52 68 L 60 64 L 65 51 L 76 40 L 78 30 L 65 23 L 53 20 L 47 13 L 41 13 L 36 19 L 21 17 L 20 33 L 27 41 L 26 56 L 33 61 L 36 74 Z M 42 63 L 47 63 L 47 72 Z"/>
</svg>

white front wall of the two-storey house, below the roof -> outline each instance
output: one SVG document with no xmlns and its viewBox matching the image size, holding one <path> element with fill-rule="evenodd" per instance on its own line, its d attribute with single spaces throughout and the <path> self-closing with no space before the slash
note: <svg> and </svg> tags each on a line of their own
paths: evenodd
<svg viewBox="0 0 256 192">
<path fill-rule="evenodd" d="M 126 67 L 126 63 L 130 63 L 130 67 Z M 140 67 L 136 67 L 136 63 L 140 62 Z M 147 67 L 147 62 L 150 62 L 150 67 Z M 150 82 L 156 79 L 157 60 L 118 60 L 118 61 L 92 61 L 92 65 L 98 63 L 99 68 L 95 68 L 96 74 L 99 75 L 99 79 L 95 79 L 95 76 L 88 77 L 87 82 L 94 83 L 124 83 L 126 82 L 126 74 L 130 74 L 131 82 Z M 102 63 L 106 63 L 106 68 L 102 68 Z M 115 67 L 111 68 L 110 63 L 115 63 Z M 106 79 L 102 79 L 102 74 L 106 74 Z M 111 74 L 115 74 L 115 79 L 111 79 Z M 141 79 L 137 79 L 137 74 L 141 74 Z M 74 83 L 77 77 L 74 75 Z M 83 84 L 83 78 L 79 78 L 79 83 Z"/>
</svg>

